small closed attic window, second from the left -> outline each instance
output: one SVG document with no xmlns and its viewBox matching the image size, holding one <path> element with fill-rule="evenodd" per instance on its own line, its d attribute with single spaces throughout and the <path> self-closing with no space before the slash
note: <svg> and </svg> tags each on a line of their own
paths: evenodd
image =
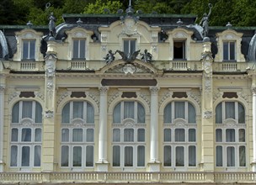
<svg viewBox="0 0 256 185">
<path fill-rule="evenodd" d="M 73 40 L 73 59 L 85 59 L 85 43 L 84 39 Z"/>
</svg>

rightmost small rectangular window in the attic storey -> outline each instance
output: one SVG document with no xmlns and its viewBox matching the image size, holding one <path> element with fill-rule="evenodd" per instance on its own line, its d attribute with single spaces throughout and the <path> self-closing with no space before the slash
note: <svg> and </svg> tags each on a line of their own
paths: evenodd
<svg viewBox="0 0 256 185">
<path fill-rule="evenodd" d="M 223 42 L 223 61 L 236 61 L 236 42 Z"/>
</svg>

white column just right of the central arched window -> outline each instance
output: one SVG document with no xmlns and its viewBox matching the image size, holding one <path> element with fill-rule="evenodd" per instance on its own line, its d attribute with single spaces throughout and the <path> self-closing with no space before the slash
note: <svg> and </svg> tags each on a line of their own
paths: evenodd
<svg viewBox="0 0 256 185">
<path fill-rule="evenodd" d="M 151 114 L 150 114 L 150 171 L 158 172 L 160 162 L 158 156 L 158 87 L 150 87 Z"/>
</svg>

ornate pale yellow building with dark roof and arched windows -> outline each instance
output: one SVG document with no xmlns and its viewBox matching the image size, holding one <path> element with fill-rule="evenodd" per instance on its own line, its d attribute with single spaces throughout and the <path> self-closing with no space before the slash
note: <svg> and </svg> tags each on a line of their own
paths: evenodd
<svg viewBox="0 0 256 185">
<path fill-rule="evenodd" d="M 1 182 L 256 182 L 255 28 L 63 18 L 0 26 Z"/>
</svg>

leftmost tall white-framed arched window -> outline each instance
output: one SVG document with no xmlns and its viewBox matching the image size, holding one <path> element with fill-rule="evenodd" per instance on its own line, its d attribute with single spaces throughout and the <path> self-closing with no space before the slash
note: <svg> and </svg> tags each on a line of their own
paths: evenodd
<svg viewBox="0 0 256 185">
<path fill-rule="evenodd" d="M 11 167 L 41 165 L 42 107 L 35 101 L 19 101 L 12 109 Z"/>
</svg>

